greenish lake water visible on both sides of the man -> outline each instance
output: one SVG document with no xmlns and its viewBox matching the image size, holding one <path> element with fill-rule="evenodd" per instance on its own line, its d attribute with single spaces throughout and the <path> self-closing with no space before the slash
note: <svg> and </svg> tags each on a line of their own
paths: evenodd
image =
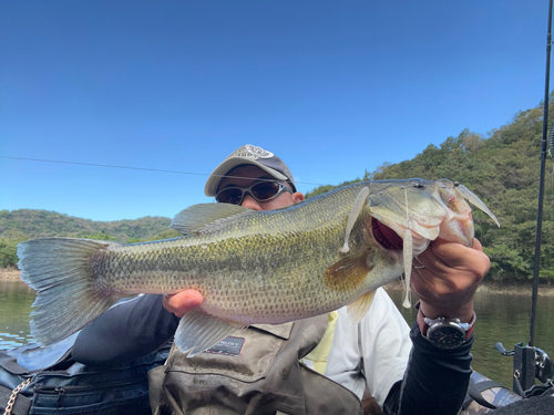
<svg viewBox="0 0 554 415">
<path fill-rule="evenodd" d="M 496 352 L 494 344 L 502 342 L 507 350 L 519 342 L 527 344 L 531 319 L 531 288 L 527 295 L 476 294 L 475 342 L 473 369 L 512 387 L 512 359 Z M 403 309 L 401 291 L 390 291 L 404 319 L 416 320 L 416 310 Z M 0 281 L 0 349 L 32 342 L 29 313 L 34 292 L 19 281 Z M 61 304 L 61 307 L 63 307 Z M 538 297 L 535 322 L 535 345 L 554 359 L 554 298 Z"/>
</svg>

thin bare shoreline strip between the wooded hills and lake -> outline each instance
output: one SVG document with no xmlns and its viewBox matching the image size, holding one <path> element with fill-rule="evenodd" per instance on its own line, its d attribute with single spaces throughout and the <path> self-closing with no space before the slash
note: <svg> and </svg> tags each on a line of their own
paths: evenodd
<svg viewBox="0 0 554 415">
<path fill-rule="evenodd" d="M 13 281 L 24 283 L 20 276 L 19 270 L 13 268 L 0 268 L 0 281 Z M 383 287 L 387 291 L 403 290 L 402 281 L 397 280 Z M 478 293 L 483 294 L 509 294 L 509 295 L 531 295 L 533 284 L 531 280 L 527 281 L 484 281 L 478 288 Z M 538 295 L 554 297 L 554 284 L 547 286 L 544 283 L 538 284 Z"/>
</svg>

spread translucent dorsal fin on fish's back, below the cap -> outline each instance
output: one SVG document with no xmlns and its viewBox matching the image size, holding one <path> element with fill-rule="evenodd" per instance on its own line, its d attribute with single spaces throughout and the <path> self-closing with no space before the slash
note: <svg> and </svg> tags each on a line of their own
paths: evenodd
<svg viewBox="0 0 554 415">
<path fill-rule="evenodd" d="M 181 234 L 204 234 L 214 230 L 213 225 L 222 219 L 250 214 L 254 210 L 230 204 L 199 204 L 181 210 L 173 218 L 170 228 Z"/>
</svg>

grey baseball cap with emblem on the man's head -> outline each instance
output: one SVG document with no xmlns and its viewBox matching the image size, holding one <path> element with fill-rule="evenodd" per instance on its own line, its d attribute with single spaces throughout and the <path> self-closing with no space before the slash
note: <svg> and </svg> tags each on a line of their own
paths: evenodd
<svg viewBox="0 0 554 415">
<path fill-rule="evenodd" d="M 293 190 L 296 191 L 293 174 L 279 157 L 261 147 L 246 144 L 229 154 L 227 158 L 225 158 L 225 160 L 219 166 L 217 166 L 214 172 L 212 172 L 206 181 L 206 187 L 204 187 L 204 194 L 206 196 L 215 196 L 217 193 L 217 187 L 219 186 L 219 181 L 222 181 L 222 179 L 227 173 L 229 173 L 232 168 L 242 164 L 252 164 L 254 166 L 258 166 L 263 170 L 269 173 L 276 179 L 281 181 L 289 181 L 293 185 Z"/>
</svg>

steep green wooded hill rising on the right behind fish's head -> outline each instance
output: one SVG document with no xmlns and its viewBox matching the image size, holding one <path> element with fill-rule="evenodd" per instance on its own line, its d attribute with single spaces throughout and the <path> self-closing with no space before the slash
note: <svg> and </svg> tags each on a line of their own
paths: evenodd
<svg viewBox="0 0 554 415">
<path fill-rule="evenodd" d="M 552 95 L 551 95 L 552 103 Z M 550 105 L 553 108 L 554 105 Z M 548 114 L 552 122 L 553 113 Z M 479 209 L 473 209 L 475 236 L 491 258 L 490 278 L 512 279 L 533 276 L 535 227 L 538 200 L 543 111 L 542 106 L 521 111 L 511 123 L 488 136 L 464 129 L 448 137 L 439 147 L 429 145 L 413 159 L 384 163 L 362 179 L 384 180 L 421 177 L 449 178 L 465 185 L 497 217 L 501 228 Z M 554 278 L 554 209 L 552 159 L 546 160 L 541 278 Z M 346 181 L 341 185 L 359 181 Z M 307 196 L 329 191 L 316 188 Z"/>
</svg>

